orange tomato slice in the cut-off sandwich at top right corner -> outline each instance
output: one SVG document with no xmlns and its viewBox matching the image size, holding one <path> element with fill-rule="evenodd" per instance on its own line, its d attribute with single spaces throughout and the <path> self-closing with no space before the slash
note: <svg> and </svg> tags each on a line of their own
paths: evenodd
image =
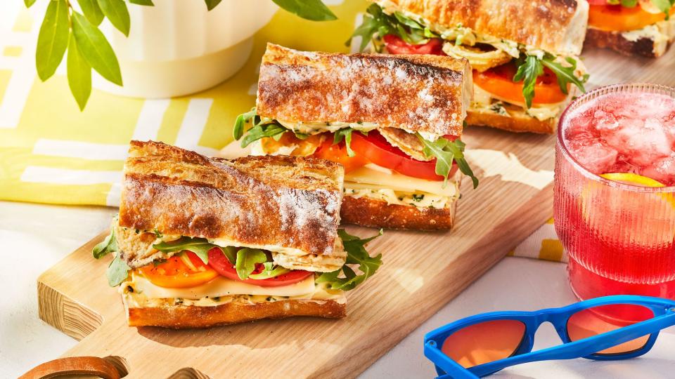
<svg viewBox="0 0 675 379">
<path fill-rule="evenodd" d="M 675 13 L 675 7 L 670 14 Z M 650 13 L 641 6 L 628 8 L 620 5 L 593 4 L 589 8 L 589 26 L 616 32 L 642 29 L 665 20 L 664 13 Z"/>
</svg>

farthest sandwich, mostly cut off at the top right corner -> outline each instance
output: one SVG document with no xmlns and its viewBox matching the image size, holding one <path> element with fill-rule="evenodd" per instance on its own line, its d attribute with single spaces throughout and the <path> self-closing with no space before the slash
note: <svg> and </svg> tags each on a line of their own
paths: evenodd
<svg viewBox="0 0 675 379">
<path fill-rule="evenodd" d="M 590 0 L 586 45 L 658 58 L 675 39 L 674 0 Z"/>
</svg>

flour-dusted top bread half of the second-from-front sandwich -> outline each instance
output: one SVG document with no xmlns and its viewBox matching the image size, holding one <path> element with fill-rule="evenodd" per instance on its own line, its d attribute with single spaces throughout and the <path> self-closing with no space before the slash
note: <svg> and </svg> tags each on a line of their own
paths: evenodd
<svg viewBox="0 0 675 379">
<path fill-rule="evenodd" d="M 368 122 L 461 135 L 471 83 L 464 59 L 313 53 L 267 44 L 257 112 L 291 123 Z"/>
</svg>

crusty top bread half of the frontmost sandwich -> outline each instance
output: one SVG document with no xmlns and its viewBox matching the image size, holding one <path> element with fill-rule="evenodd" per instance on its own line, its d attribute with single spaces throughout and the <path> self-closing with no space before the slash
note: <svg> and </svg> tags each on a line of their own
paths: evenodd
<svg viewBox="0 0 675 379">
<path fill-rule="evenodd" d="M 295 255 L 334 255 L 342 246 L 336 239 L 344 175 L 340 164 L 323 159 L 227 160 L 131 141 L 119 224 L 276 246 Z"/>
</svg>

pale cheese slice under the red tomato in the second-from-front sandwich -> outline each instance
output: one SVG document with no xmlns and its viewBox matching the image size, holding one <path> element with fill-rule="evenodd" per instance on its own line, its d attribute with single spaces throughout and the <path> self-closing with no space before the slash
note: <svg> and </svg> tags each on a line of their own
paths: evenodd
<svg viewBox="0 0 675 379">
<path fill-rule="evenodd" d="M 374 164 L 366 164 L 366 166 L 345 173 L 345 188 L 366 187 L 368 189 L 392 189 L 397 192 L 427 192 L 445 197 L 453 197 L 457 194 L 454 182 L 456 182 L 456 177 L 449 178 L 448 184 L 443 187 L 442 181 L 412 178 Z"/>
</svg>

